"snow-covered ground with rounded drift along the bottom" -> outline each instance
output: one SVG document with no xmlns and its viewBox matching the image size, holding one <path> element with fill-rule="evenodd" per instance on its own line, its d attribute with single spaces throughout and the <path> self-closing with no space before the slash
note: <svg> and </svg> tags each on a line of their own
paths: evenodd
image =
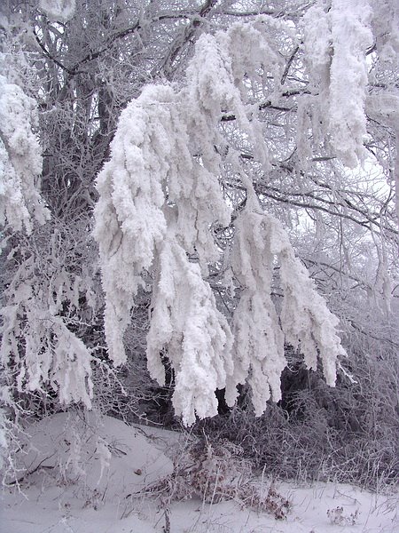
<svg viewBox="0 0 399 533">
<path fill-rule="evenodd" d="M 178 449 L 179 436 L 125 426 L 113 418 L 105 419 L 99 437 L 93 437 L 95 433 L 98 420 L 94 417 L 82 424 L 64 414 L 29 428 L 25 453 L 16 460 L 27 465 L 30 473 L 20 480 L 23 494 L 15 489 L 4 491 L 2 532 L 165 531 L 166 515 L 160 498 L 137 492 L 172 472 L 167 454 Z M 82 466 L 86 473 L 80 472 Z M 397 493 L 376 495 L 325 483 L 305 487 L 284 482 L 278 483 L 277 489 L 292 504 L 285 520 L 243 509 L 233 501 L 211 505 L 192 498 L 169 505 L 170 533 L 399 531 Z"/>
</svg>

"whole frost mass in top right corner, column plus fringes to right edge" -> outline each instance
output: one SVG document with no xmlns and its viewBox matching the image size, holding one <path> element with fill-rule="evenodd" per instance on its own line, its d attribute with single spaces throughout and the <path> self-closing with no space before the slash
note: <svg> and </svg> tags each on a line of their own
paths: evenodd
<svg viewBox="0 0 399 533">
<path fill-rule="evenodd" d="M 309 158 L 307 132 L 327 142 L 332 156 L 348 167 L 364 163 L 367 118 L 388 127 L 396 139 L 395 189 L 399 191 L 399 117 L 396 101 L 399 68 L 399 4 L 393 0 L 332 0 L 330 9 L 319 0 L 301 20 L 304 62 L 309 71 L 309 96 L 298 104 L 298 155 Z M 391 83 L 379 84 L 379 68 L 390 72 Z M 381 67 L 382 66 L 382 67 Z M 399 219 L 399 195 L 396 215 Z"/>
</svg>

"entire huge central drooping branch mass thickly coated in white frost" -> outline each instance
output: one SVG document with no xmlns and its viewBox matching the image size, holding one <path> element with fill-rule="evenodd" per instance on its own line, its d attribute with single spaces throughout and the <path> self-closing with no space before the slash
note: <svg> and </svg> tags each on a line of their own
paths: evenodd
<svg viewBox="0 0 399 533">
<path fill-rule="evenodd" d="M 295 259 L 282 227 L 262 211 L 240 159 L 239 145 L 245 143 L 253 161 L 270 170 L 248 80 L 254 78 L 265 98 L 278 93 L 278 85 L 270 87 L 270 73 L 280 80 L 284 71 L 274 38 L 283 26 L 259 17 L 200 37 L 183 89 L 149 86 L 122 113 L 111 159 L 98 176 L 94 234 L 110 357 L 116 364 L 125 361 L 123 333 L 149 271 L 154 282 L 148 365 L 163 383 L 161 354 L 168 356 L 176 377 L 173 402 L 186 424 L 196 414 L 215 415 L 216 388 L 226 387 L 231 404 L 236 386 L 246 380 L 256 414 L 270 396 L 277 401 L 285 337 L 294 346 L 301 343 L 309 366 L 316 366 L 320 350 L 330 384 L 344 353 L 337 320 Z M 234 142 L 220 128 L 225 113 L 234 115 Z M 221 187 L 231 173 L 251 197 L 234 223 Z M 207 282 L 207 267 L 223 253 L 214 241 L 216 224 L 235 231 L 231 279 L 241 296 L 232 332 Z M 282 325 L 270 296 L 276 259 L 285 290 Z"/>
</svg>

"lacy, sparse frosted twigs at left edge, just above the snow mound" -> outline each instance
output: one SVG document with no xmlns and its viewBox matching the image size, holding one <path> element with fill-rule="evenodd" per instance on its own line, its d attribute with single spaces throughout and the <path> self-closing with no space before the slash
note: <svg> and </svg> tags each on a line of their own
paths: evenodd
<svg viewBox="0 0 399 533">
<path fill-rule="evenodd" d="M 78 308 L 81 281 L 63 268 L 50 280 L 38 278 L 35 258 L 22 262 L 0 310 L 0 362 L 16 372 L 18 391 L 42 391 L 50 385 L 60 403 L 82 402 L 90 409 L 90 350 L 62 318 L 66 301 Z"/>
</svg>

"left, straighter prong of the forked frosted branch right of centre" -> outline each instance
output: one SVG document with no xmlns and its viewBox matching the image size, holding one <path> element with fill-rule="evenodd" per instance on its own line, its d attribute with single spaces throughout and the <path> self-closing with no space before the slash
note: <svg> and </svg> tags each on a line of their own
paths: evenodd
<svg viewBox="0 0 399 533">
<path fill-rule="evenodd" d="M 260 416 L 270 395 L 276 402 L 281 397 L 284 337 L 270 297 L 273 258 L 262 213 L 243 211 L 236 229 L 231 268 L 244 289 L 233 317 L 234 372 L 226 386 L 226 401 L 235 402 L 236 385 L 244 384 L 249 375 L 254 412 Z"/>
</svg>

